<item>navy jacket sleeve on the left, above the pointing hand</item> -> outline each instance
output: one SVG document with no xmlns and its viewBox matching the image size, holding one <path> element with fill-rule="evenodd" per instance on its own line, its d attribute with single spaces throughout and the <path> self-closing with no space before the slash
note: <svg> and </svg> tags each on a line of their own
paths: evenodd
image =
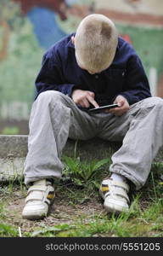
<svg viewBox="0 0 163 256">
<path fill-rule="evenodd" d="M 72 90 L 76 87 L 75 84 L 65 83 L 62 63 L 59 61 L 59 56 L 52 50 L 43 55 L 42 67 L 35 84 L 37 88 L 35 100 L 40 93 L 46 90 L 58 90 L 71 96 Z"/>
</svg>

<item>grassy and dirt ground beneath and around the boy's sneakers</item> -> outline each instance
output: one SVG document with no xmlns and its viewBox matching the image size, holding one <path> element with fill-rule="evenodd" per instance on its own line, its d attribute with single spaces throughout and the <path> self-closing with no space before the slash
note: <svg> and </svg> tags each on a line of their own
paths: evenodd
<svg viewBox="0 0 163 256">
<path fill-rule="evenodd" d="M 120 236 L 163 237 L 163 164 L 153 163 L 143 189 L 132 191 L 129 212 L 119 216 L 107 213 L 98 195 L 100 181 L 108 175 L 110 159 L 87 163 L 65 158 L 63 179 L 56 181 L 56 209 L 48 218 L 28 221 L 21 218 L 20 201 L 25 188 L 14 179 L 0 189 L 0 236 L 89 237 Z M 83 172 L 86 171 L 87 172 Z"/>
</svg>

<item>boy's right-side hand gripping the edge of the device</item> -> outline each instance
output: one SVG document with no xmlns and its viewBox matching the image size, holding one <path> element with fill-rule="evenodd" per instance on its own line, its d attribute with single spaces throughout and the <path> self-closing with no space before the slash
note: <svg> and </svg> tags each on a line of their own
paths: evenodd
<svg viewBox="0 0 163 256">
<path fill-rule="evenodd" d="M 110 110 L 106 110 L 105 112 L 113 113 L 116 116 L 121 116 L 126 113 L 130 108 L 128 102 L 126 101 L 126 98 L 121 95 L 115 98 L 114 104 L 118 104 L 119 108 L 112 108 Z"/>
</svg>

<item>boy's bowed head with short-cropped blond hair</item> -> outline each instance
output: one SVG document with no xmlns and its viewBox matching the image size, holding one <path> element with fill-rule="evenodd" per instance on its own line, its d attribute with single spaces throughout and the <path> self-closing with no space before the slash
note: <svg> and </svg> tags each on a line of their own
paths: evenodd
<svg viewBox="0 0 163 256">
<path fill-rule="evenodd" d="M 76 61 L 89 73 L 100 73 L 110 67 L 118 44 L 114 23 L 104 15 L 87 15 L 72 37 Z"/>
</svg>

